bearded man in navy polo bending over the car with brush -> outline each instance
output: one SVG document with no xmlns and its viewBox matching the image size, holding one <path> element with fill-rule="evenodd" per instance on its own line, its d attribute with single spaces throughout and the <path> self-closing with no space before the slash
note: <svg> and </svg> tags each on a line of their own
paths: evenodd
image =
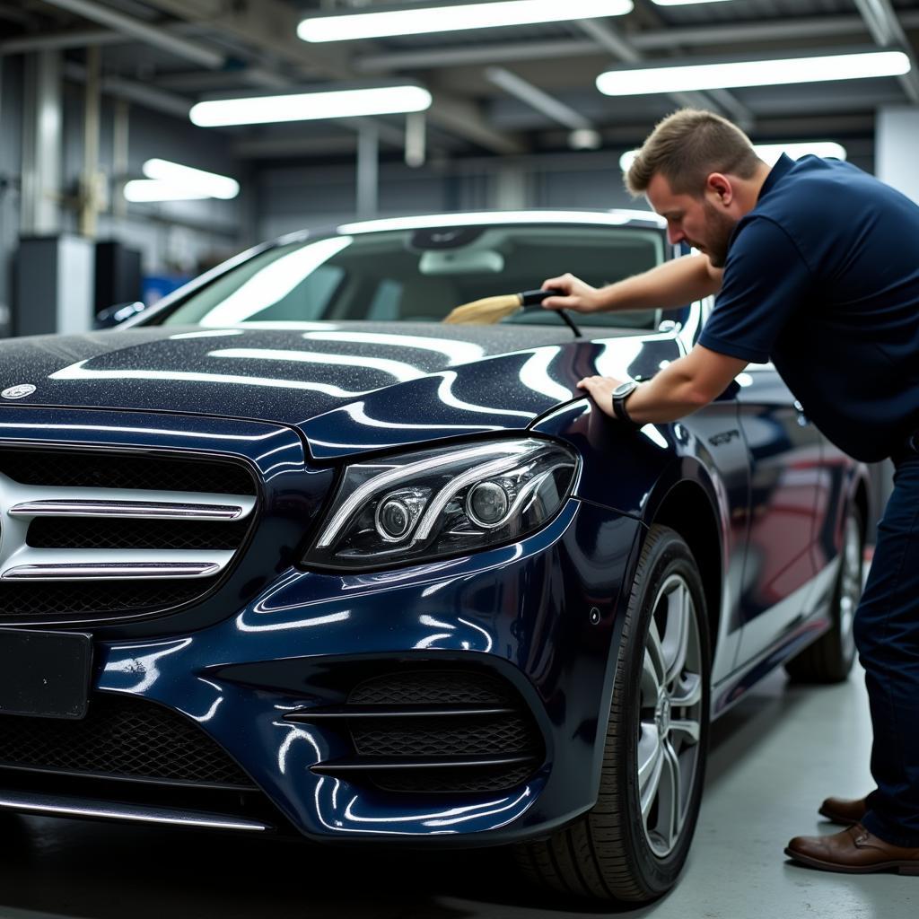
<svg viewBox="0 0 919 919">
<path fill-rule="evenodd" d="M 600 289 L 549 278 L 562 295 L 543 307 L 667 309 L 717 294 L 715 308 L 692 351 L 652 380 L 578 386 L 621 424 L 669 422 L 771 360 L 826 437 L 896 466 L 855 621 L 877 789 L 825 800 L 846 829 L 785 851 L 830 871 L 919 874 L 919 207 L 838 160 L 783 155 L 770 169 L 742 130 L 694 109 L 653 130 L 626 183 L 671 243 L 701 255 Z"/>
</svg>

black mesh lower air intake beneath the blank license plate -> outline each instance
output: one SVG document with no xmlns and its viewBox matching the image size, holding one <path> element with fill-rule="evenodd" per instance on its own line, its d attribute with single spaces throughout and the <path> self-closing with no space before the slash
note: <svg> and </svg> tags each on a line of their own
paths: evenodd
<svg viewBox="0 0 919 919">
<path fill-rule="evenodd" d="M 96 694 L 82 720 L 0 715 L 0 766 L 252 789 L 221 747 L 176 712 Z"/>
</svg>

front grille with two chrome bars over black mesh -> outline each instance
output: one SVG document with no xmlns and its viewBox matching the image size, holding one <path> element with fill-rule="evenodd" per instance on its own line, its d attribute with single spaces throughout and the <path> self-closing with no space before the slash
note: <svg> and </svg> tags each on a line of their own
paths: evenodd
<svg viewBox="0 0 919 919">
<path fill-rule="evenodd" d="M 254 517 L 255 482 L 232 463 L 2 451 L 0 621 L 187 603 L 227 570 Z"/>
</svg>

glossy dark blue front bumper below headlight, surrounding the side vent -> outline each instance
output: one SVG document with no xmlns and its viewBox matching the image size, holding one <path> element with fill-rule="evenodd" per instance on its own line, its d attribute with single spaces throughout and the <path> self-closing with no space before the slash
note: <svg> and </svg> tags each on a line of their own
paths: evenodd
<svg viewBox="0 0 919 919">
<path fill-rule="evenodd" d="M 195 720 L 314 839 L 541 834 L 596 800 L 618 597 L 638 528 L 571 500 L 539 534 L 479 556 L 350 576 L 291 569 L 209 629 L 103 644 L 96 687 Z M 380 789 L 367 771 L 329 766 L 350 753 L 340 730 L 285 717 L 339 705 L 365 667 L 422 664 L 514 687 L 544 741 L 528 780 L 489 792 Z"/>
</svg>

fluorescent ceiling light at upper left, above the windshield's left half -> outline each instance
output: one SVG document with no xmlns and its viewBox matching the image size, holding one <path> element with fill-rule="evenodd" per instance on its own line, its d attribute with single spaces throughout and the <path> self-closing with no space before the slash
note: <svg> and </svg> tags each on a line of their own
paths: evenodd
<svg viewBox="0 0 919 919">
<path fill-rule="evenodd" d="M 425 111 L 430 107 L 431 94 L 421 86 L 374 86 L 369 89 L 323 89 L 286 96 L 212 99 L 192 106 L 188 117 L 201 128 L 219 128 L 231 124 L 394 115 Z"/>
</svg>

